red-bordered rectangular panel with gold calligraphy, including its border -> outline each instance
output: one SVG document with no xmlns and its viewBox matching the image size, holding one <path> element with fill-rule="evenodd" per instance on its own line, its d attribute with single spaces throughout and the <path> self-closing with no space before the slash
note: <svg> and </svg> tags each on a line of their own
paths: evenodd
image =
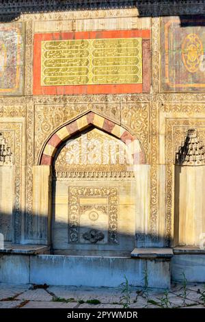
<svg viewBox="0 0 205 322">
<path fill-rule="evenodd" d="M 35 34 L 34 53 L 34 95 L 150 90 L 150 30 Z"/>
</svg>

